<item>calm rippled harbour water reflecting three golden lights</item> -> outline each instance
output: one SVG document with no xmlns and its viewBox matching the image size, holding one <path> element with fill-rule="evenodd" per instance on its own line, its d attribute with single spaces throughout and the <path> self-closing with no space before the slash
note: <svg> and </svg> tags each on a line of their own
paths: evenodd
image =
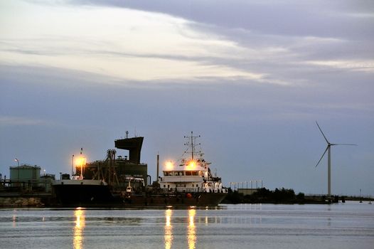
<svg viewBox="0 0 374 249">
<path fill-rule="evenodd" d="M 0 209 L 0 248 L 374 248 L 374 205 Z"/>
</svg>

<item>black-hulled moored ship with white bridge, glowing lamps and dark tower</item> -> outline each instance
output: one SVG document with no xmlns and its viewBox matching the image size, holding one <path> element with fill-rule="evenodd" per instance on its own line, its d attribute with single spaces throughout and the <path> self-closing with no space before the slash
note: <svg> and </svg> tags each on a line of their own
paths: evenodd
<svg viewBox="0 0 374 249">
<path fill-rule="evenodd" d="M 127 132 L 128 136 L 128 132 Z M 105 160 L 85 163 L 82 156 L 75 163 L 75 174 L 63 174 L 53 181 L 58 206 L 62 207 L 145 207 L 145 206 L 217 206 L 228 194 L 220 177 L 210 171 L 205 161 L 200 136 L 185 137 L 186 152 L 178 161 L 167 161 L 159 176 L 157 155 L 156 181 L 151 183 L 147 164 L 140 162 L 144 137 L 117 139 L 114 146 L 128 151 L 117 156 L 107 150 Z M 73 165 L 72 165 L 73 166 Z"/>
</svg>

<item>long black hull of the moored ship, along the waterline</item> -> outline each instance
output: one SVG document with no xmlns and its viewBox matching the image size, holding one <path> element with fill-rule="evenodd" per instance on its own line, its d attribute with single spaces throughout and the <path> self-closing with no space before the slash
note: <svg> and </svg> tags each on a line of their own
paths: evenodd
<svg viewBox="0 0 374 249">
<path fill-rule="evenodd" d="M 112 194 L 107 185 L 54 185 L 60 207 L 126 208 L 218 206 L 226 193 Z"/>
</svg>

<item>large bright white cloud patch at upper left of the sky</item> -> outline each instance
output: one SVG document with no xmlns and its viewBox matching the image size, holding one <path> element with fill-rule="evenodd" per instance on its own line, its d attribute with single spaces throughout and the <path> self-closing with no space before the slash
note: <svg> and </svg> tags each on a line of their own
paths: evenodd
<svg viewBox="0 0 374 249">
<path fill-rule="evenodd" d="M 262 73 L 220 64 L 221 58 L 240 58 L 245 49 L 193 30 L 181 18 L 129 9 L 29 8 L 21 20 L 24 35 L 4 28 L 3 64 L 53 65 L 125 80 L 262 78 Z M 4 26 L 18 21 L 9 18 Z"/>
</svg>

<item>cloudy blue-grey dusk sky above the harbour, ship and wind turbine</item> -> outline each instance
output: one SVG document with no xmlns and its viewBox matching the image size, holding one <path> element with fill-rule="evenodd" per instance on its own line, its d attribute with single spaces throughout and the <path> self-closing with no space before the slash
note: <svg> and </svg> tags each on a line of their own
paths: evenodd
<svg viewBox="0 0 374 249">
<path fill-rule="evenodd" d="M 0 1 L 0 172 L 198 142 L 225 186 L 374 196 L 374 2 Z M 117 150 L 117 155 L 126 152 Z"/>
</svg>

